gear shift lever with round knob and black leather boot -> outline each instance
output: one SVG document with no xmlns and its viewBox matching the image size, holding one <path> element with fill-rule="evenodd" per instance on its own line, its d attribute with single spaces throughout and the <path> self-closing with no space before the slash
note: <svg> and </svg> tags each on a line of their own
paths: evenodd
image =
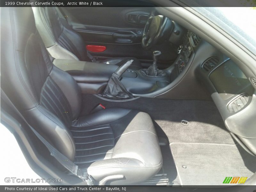
<svg viewBox="0 0 256 192">
<path fill-rule="evenodd" d="M 164 77 L 165 72 L 162 70 L 157 69 L 156 63 L 159 58 L 159 56 L 162 53 L 160 51 L 154 51 L 153 52 L 153 64 L 149 66 L 147 69 L 141 69 L 141 73 L 146 76 L 157 76 L 157 77 Z"/>
</svg>

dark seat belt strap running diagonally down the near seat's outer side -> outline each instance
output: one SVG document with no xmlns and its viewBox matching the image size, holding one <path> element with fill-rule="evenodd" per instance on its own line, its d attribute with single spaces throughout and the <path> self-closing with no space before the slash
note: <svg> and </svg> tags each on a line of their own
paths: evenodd
<svg viewBox="0 0 256 192">
<path fill-rule="evenodd" d="M 20 111 L 14 106 L 12 101 L 7 97 L 7 95 L 4 93 L 2 88 L 1 88 L 1 97 L 11 108 L 14 109 L 15 112 L 17 112 L 17 114 L 25 121 L 25 123 L 28 124 L 26 119 L 21 115 Z M 31 127 L 29 124 L 28 126 L 35 133 L 36 137 L 39 140 L 41 140 L 42 143 L 44 143 L 44 145 L 48 148 L 48 150 L 51 153 L 51 156 L 53 156 L 62 166 L 64 166 L 68 171 L 72 172 L 74 175 L 76 175 L 80 179 L 84 180 L 87 185 L 94 185 L 95 180 L 92 178 L 91 175 L 89 175 L 86 171 L 83 171 L 80 168 L 78 168 L 76 164 L 70 161 L 68 157 L 60 153 L 60 151 L 58 151 L 56 148 L 54 148 L 33 127 Z"/>
</svg>

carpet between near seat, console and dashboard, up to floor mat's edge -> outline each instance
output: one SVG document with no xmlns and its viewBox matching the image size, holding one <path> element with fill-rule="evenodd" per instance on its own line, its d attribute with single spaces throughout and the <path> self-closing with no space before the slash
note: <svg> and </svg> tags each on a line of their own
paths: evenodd
<svg viewBox="0 0 256 192">
<path fill-rule="evenodd" d="M 105 101 L 84 94 L 83 115 L 98 103 L 107 108 L 133 108 L 148 113 L 155 122 L 157 134 L 169 142 L 234 144 L 213 101 L 162 100 L 139 98 L 127 102 Z M 188 126 L 180 124 L 189 121 Z"/>
</svg>

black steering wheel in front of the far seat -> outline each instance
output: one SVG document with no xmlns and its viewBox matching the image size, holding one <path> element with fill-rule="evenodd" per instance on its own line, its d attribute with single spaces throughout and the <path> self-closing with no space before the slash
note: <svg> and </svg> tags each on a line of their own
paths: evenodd
<svg viewBox="0 0 256 192">
<path fill-rule="evenodd" d="M 151 49 L 160 38 L 171 35 L 173 23 L 163 15 L 156 15 L 155 10 L 150 13 L 142 36 L 142 47 Z"/>
</svg>

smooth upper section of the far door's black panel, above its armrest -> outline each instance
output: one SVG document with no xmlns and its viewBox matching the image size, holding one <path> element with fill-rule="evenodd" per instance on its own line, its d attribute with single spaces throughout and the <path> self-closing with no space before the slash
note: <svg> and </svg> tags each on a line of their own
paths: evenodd
<svg viewBox="0 0 256 192">
<path fill-rule="evenodd" d="M 145 22 L 137 22 L 136 17 L 141 14 L 149 14 L 152 7 L 62 7 L 61 9 L 72 24 L 134 29 L 144 28 Z M 134 22 L 129 15 L 135 15 Z"/>
</svg>

